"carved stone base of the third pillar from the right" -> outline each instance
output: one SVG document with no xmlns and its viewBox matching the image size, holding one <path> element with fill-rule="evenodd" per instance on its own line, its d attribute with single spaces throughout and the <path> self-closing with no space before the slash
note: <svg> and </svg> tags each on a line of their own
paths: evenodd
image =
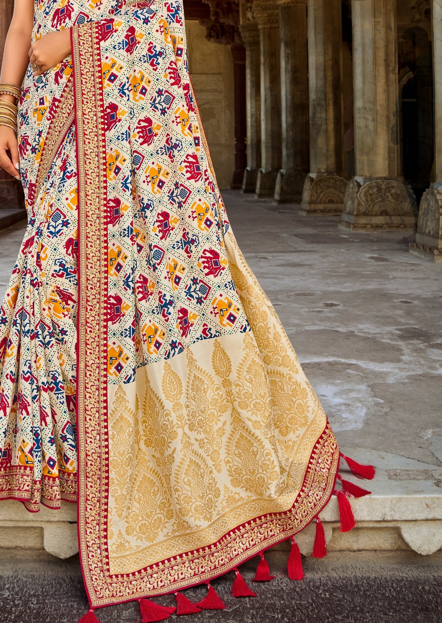
<svg viewBox="0 0 442 623">
<path fill-rule="evenodd" d="M 336 173 L 309 173 L 300 214 L 341 214 L 347 180 Z"/>
</svg>

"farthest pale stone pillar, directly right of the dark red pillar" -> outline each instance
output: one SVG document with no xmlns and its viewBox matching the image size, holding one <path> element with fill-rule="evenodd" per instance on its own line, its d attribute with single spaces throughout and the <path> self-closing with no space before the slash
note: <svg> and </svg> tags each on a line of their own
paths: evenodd
<svg viewBox="0 0 442 623">
<path fill-rule="evenodd" d="M 258 169 L 261 166 L 260 33 L 256 22 L 246 20 L 240 24 L 240 32 L 245 45 L 247 108 L 247 167 L 241 192 L 255 193 Z"/>
</svg>

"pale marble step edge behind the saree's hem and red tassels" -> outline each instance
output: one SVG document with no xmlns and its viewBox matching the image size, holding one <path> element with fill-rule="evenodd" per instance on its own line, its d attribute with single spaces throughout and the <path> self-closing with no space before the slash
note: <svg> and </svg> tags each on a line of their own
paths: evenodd
<svg viewBox="0 0 442 623">
<path fill-rule="evenodd" d="M 442 468 L 388 452 L 362 448 L 342 449 L 359 462 L 375 465 L 374 480 L 362 481 L 346 471 L 341 475 L 372 493 L 351 499 L 356 527 L 339 530 L 339 510 L 335 497 L 321 513 L 327 551 L 415 551 L 429 556 L 442 548 Z M 58 558 L 78 552 L 77 505 L 63 502 L 60 510 L 42 506 L 28 513 L 20 502 L 0 502 L 0 548 L 12 551 L 31 549 Z M 315 526 L 312 523 L 296 535 L 304 556 L 313 551 Z M 271 549 L 275 564 L 286 564 L 289 542 Z M 15 554 L 14 554 L 15 555 Z"/>
</svg>

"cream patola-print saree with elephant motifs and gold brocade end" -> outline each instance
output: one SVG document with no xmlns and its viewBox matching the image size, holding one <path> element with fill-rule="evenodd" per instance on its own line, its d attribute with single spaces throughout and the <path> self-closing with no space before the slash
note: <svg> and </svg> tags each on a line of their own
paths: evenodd
<svg viewBox="0 0 442 623">
<path fill-rule="evenodd" d="M 29 225 L 1 308 L 0 496 L 78 502 L 93 609 L 290 538 L 340 454 L 229 227 L 181 4 L 37 2 L 34 37 L 62 27 L 72 60 L 29 70 L 19 107 Z"/>
</svg>

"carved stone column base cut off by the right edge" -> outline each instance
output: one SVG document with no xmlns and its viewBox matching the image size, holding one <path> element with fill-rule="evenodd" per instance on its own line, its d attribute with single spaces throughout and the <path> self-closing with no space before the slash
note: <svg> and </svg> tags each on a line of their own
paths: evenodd
<svg viewBox="0 0 442 623">
<path fill-rule="evenodd" d="M 442 262 L 442 184 L 434 182 L 420 202 L 416 242 L 410 252 L 428 260 Z"/>
</svg>

